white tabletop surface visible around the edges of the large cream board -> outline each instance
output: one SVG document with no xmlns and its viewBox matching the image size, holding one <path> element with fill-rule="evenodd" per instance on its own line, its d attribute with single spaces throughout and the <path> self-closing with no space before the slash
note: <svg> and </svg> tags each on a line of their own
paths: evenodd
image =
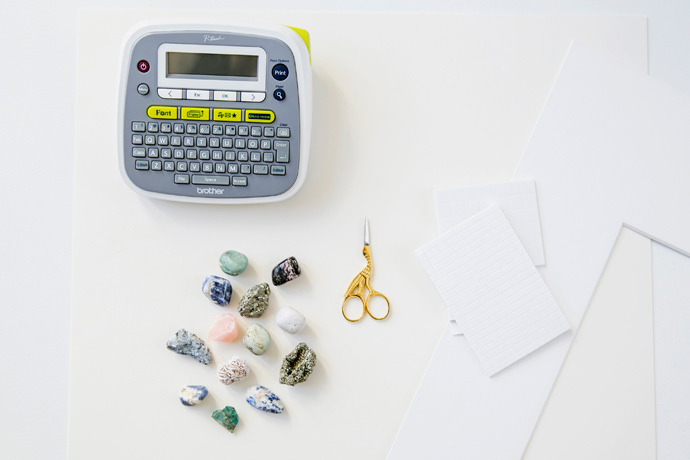
<svg viewBox="0 0 690 460">
<path fill-rule="evenodd" d="M 395 7 L 389 3 L 208 1 L 203 7 L 645 15 L 649 17 L 650 74 L 690 90 L 687 2 L 437 1 L 431 5 L 410 1 Z M 5 400 L 0 443 L 9 450 L 3 458 L 66 457 L 76 21 L 78 9 L 91 6 L 202 8 L 177 0 L 44 1 L 4 8 L 0 18 L 4 166 L 0 173 L 0 388 Z"/>
</svg>

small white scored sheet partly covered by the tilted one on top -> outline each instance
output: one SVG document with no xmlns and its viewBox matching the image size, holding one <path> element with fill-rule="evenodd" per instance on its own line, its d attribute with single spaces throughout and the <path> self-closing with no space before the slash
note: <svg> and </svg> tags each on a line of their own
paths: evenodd
<svg viewBox="0 0 690 460">
<path fill-rule="evenodd" d="M 434 191 L 438 231 L 443 233 L 492 203 L 498 204 L 534 265 L 544 265 L 537 189 L 534 181 L 457 187 Z"/>
</svg>

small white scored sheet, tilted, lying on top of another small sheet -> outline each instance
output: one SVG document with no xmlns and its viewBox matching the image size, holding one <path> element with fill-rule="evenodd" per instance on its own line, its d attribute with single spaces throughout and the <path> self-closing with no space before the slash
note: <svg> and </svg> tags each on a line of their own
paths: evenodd
<svg viewBox="0 0 690 460">
<path fill-rule="evenodd" d="M 416 255 L 490 376 L 570 329 L 497 205 Z"/>
</svg>

